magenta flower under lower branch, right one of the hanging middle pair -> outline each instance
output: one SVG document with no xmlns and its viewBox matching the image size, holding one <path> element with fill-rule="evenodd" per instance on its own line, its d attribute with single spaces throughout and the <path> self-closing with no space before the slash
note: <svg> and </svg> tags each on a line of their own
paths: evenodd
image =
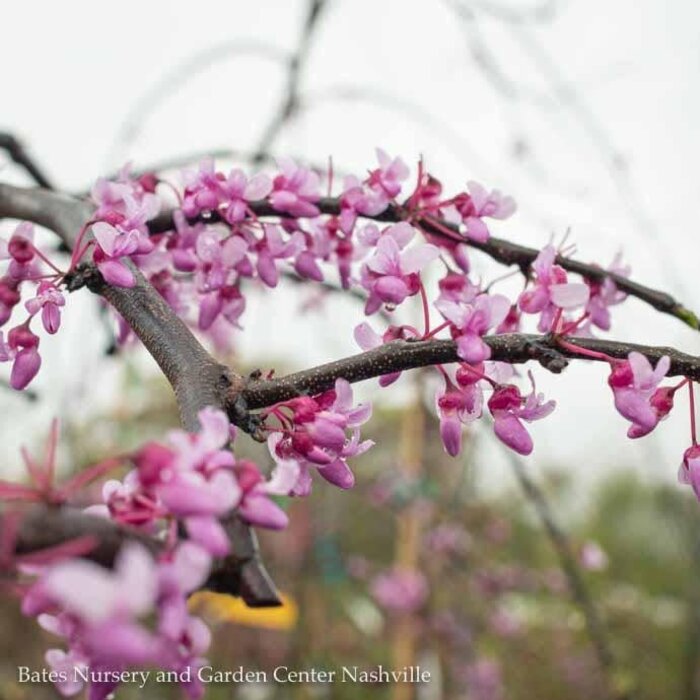
<svg viewBox="0 0 700 700">
<path fill-rule="evenodd" d="M 526 397 L 517 386 L 506 384 L 496 389 L 488 401 L 496 437 L 521 455 L 529 455 L 533 449 L 532 438 L 522 421 L 530 423 L 545 418 L 556 406 L 555 401 L 545 403 L 544 395 L 535 393 L 532 373 L 528 372 L 528 376 L 532 392 Z"/>
</svg>

